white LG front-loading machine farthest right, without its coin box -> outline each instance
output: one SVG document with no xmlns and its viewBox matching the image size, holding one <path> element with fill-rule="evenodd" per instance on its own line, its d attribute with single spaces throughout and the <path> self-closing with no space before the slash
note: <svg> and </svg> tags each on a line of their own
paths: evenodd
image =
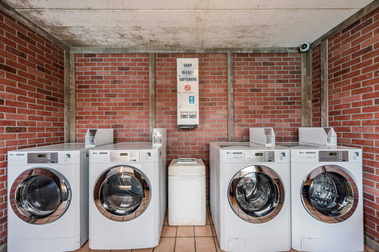
<svg viewBox="0 0 379 252">
<path fill-rule="evenodd" d="M 277 144 L 291 148 L 293 249 L 363 251 L 362 150 Z"/>
</svg>

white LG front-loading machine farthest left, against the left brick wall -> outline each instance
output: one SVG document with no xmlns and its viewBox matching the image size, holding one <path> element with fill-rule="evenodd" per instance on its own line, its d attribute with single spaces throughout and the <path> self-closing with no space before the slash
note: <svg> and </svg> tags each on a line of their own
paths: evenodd
<svg viewBox="0 0 379 252">
<path fill-rule="evenodd" d="M 88 239 L 88 148 L 8 152 L 8 251 L 61 252 Z"/>
</svg>

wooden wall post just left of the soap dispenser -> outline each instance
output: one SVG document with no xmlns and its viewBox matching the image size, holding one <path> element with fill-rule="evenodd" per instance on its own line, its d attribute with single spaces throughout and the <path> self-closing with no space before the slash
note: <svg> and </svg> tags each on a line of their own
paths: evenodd
<svg viewBox="0 0 379 252">
<path fill-rule="evenodd" d="M 149 141 L 155 128 L 155 53 L 149 53 Z"/>
</svg>

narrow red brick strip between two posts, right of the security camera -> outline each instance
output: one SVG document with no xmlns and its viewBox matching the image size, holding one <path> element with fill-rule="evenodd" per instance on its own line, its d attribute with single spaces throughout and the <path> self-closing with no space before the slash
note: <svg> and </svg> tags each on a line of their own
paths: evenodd
<svg viewBox="0 0 379 252">
<path fill-rule="evenodd" d="M 321 47 L 312 49 L 312 127 L 321 126 Z"/>
</svg>

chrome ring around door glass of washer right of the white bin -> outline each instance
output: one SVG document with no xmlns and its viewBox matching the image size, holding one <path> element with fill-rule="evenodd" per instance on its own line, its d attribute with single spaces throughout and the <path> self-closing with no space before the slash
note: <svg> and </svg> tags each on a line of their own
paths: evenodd
<svg viewBox="0 0 379 252">
<path fill-rule="evenodd" d="M 251 214 L 251 212 L 248 212 L 246 209 L 241 207 L 241 204 L 238 202 L 237 197 L 233 195 L 233 190 L 236 193 L 237 187 L 236 185 L 233 185 L 235 184 L 233 180 L 238 179 L 239 183 L 241 179 L 243 179 L 245 176 L 251 173 L 260 174 L 260 176 L 265 176 L 268 179 L 268 181 L 271 182 L 273 186 L 272 189 L 274 189 L 276 193 L 275 198 L 269 203 L 269 208 L 267 208 L 265 211 L 266 214 Z M 266 166 L 252 165 L 238 171 L 238 173 L 236 173 L 230 180 L 228 187 L 228 199 L 230 207 L 238 217 L 250 223 L 264 223 L 270 221 L 279 214 L 280 210 L 282 209 L 283 202 L 285 200 L 285 191 L 282 180 L 275 171 Z"/>
</svg>

